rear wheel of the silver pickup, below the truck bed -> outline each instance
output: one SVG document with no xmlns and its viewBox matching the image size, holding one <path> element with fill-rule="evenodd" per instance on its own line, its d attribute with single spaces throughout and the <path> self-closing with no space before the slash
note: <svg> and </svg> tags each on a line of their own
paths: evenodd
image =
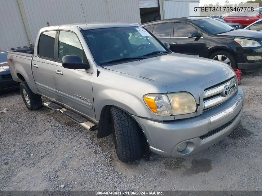
<svg viewBox="0 0 262 196">
<path fill-rule="evenodd" d="M 34 94 L 25 81 L 20 83 L 20 93 L 29 110 L 38 110 L 42 107 L 41 96 Z"/>
</svg>

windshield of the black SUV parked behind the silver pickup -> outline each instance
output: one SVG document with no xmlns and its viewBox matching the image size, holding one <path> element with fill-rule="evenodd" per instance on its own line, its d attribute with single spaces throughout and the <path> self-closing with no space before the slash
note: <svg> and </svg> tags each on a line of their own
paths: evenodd
<svg viewBox="0 0 262 196">
<path fill-rule="evenodd" d="M 234 30 L 234 28 L 230 27 L 229 25 L 214 19 L 194 20 L 193 23 L 211 35 L 226 33 Z"/>
</svg>

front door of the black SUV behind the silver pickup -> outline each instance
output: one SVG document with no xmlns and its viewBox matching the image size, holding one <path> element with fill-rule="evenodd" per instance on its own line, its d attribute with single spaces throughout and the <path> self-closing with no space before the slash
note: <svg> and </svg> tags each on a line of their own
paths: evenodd
<svg viewBox="0 0 262 196">
<path fill-rule="evenodd" d="M 172 52 L 202 56 L 204 51 L 203 37 L 189 37 L 190 33 L 198 32 L 191 24 L 183 22 L 174 23 L 173 36 L 170 39 L 170 50 Z"/>
</svg>

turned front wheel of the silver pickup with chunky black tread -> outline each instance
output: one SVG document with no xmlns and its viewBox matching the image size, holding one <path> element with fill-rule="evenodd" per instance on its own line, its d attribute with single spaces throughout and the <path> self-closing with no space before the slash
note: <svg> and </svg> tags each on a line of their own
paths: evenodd
<svg viewBox="0 0 262 196">
<path fill-rule="evenodd" d="M 118 159 L 124 163 L 141 157 L 141 129 L 136 121 L 118 107 L 111 109 L 113 141 Z"/>
</svg>

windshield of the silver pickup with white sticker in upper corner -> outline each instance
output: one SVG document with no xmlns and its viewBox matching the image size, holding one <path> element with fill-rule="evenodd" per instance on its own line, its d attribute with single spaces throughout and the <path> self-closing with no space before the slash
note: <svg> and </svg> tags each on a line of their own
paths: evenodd
<svg viewBox="0 0 262 196">
<path fill-rule="evenodd" d="M 85 30 L 84 34 L 100 65 L 119 59 L 139 60 L 167 53 L 167 50 L 142 27 L 91 29 Z"/>
</svg>

